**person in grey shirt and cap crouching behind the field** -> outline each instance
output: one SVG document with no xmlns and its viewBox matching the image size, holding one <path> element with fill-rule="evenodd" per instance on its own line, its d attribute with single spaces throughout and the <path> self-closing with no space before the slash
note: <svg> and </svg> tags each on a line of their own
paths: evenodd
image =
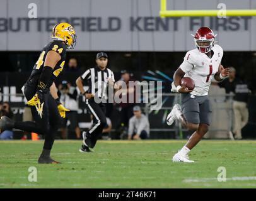
<svg viewBox="0 0 256 201">
<path fill-rule="evenodd" d="M 128 139 L 147 139 L 149 137 L 149 121 L 141 112 L 141 107 L 134 106 L 134 116 L 129 120 Z"/>
</svg>

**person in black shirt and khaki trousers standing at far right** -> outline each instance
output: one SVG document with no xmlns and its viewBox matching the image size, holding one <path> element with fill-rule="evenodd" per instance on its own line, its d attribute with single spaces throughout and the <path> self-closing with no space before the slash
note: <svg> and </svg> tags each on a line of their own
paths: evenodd
<svg viewBox="0 0 256 201">
<path fill-rule="evenodd" d="M 249 112 L 247 108 L 248 96 L 250 90 L 248 84 L 236 77 L 236 70 L 230 67 L 230 77 L 220 84 L 224 87 L 226 94 L 235 94 L 233 99 L 233 116 L 234 116 L 234 126 L 233 134 L 235 139 L 242 139 L 241 129 L 247 124 Z"/>
</svg>

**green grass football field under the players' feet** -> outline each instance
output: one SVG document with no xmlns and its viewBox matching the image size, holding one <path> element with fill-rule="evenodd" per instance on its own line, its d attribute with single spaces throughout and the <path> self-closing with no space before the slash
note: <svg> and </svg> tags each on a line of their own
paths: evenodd
<svg viewBox="0 0 256 201">
<path fill-rule="evenodd" d="M 79 153 L 80 141 L 55 141 L 58 165 L 38 165 L 43 141 L 0 142 L 0 188 L 255 188 L 256 141 L 201 141 L 194 164 L 173 163 L 185 141 L 98 141 Z M 28 182 L 28 168 L 37 182 Z M 218 167 L 226 182 L 218 182 Z"/>
</svg>

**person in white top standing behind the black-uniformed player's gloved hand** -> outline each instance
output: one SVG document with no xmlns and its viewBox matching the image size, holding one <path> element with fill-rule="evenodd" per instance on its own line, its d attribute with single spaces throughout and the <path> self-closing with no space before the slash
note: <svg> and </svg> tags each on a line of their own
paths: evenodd
<svg viewBox="0 0 256 201">
<path fill-rule="evenodd" d="M 58 95 L 61 103 L 64 107 L 70 109 L 70 111 L 66 113 L 66 118 L 64 119 L 64 128 L 61 129 L 62 138 L 80 139 L 81 131 L 78 126 L 78 102 L 76 101 L 78 91 L 76 90 L 76 87 L 71 86 L 66 80 L 63 80 L 58 88 Z M 68 136 L 66 134 L 67 120 L 70 122 Z"/>
</svg>

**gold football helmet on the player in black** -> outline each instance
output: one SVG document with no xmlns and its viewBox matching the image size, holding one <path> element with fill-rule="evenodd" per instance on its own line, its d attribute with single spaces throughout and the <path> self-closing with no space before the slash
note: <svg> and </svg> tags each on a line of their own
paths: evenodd
<svg viewBox="0 0 256 201">
<path fill-rule="evenodd" d="M 64 41 L 68 49 L 76 45 L 76 31 L 69 23 L 59 23 L 52 28 L 52 40 Z"/>
</svg>

